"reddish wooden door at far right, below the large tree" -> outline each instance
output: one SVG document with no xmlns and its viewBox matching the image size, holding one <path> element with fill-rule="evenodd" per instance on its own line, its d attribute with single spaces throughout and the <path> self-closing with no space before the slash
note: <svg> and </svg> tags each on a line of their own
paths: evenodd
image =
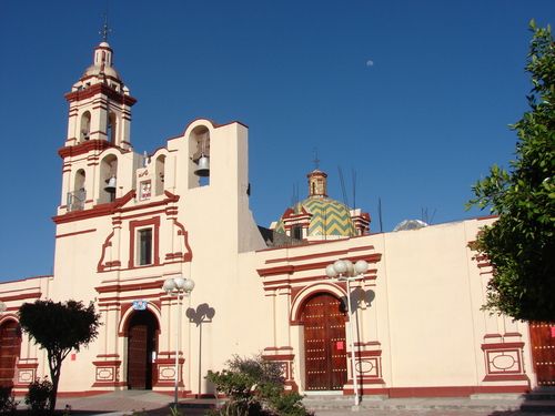
<svg viewBox="0 0 555 416">
<path fill-rule="evenodd" d="M 555 323 L 529 324 L 532 359 L 538 386 L 555 385 Z"/>
</svg>

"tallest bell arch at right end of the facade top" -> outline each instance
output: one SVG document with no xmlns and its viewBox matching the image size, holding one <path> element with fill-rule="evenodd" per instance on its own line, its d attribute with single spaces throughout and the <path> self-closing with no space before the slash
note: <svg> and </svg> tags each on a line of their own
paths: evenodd
<svg viewBox="0 0 555 416">
<path fill-rule="evenodd" d="M 210 185 L 210 131 L 199 125 L 189 136 L 189 187 Z"/>
</svg>

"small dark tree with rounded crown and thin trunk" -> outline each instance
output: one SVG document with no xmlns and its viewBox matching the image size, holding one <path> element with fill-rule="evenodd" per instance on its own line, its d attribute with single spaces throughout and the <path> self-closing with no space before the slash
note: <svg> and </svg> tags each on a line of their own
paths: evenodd
<svg viewBox="0 0 555 416">
<path fill-rule="evenodd" d="M 19 324 L 29 337 L 47 351 L 52 393 L 50 412 L 56 407 L 58 382 L 63 359 L 74 349 L 87 346 L 98 335 L 100 315 L 91 303 L 84 307 L 82 302 L 65 303 L 36 301 L 24 303 L 19 310 Z"/>
</svg>

